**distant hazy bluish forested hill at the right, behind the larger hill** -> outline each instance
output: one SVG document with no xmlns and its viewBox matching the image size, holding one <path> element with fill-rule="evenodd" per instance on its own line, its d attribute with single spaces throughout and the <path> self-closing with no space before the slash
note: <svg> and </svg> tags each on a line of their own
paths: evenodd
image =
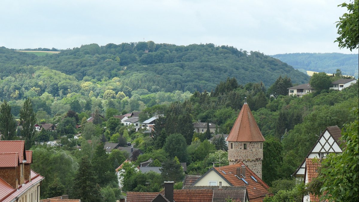
<svg viewBox="0 0 359 202">
<path fill-rule="evenodd" d="M 358 78 L 359 54 L 341 53 L 289 53 L 272 55 L 295 69 L 314 72 L 335 73 L 340 69 L 343 75 Z"/>
</svg>

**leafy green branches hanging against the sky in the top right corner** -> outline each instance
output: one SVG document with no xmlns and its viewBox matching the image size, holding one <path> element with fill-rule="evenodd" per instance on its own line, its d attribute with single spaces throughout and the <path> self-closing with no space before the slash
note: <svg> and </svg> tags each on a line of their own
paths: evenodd
<svg viewBox="0 0 359 202">
<path fill-rule="evenodd" d="M 358 31 L 358 18 L 359 6 L 358 0 L 347 4 L 342 3 L 338 6 L 346 7 L 348 13 L 344 13 L 337 21 L 336 27 L 338 28 L 339 37 L 334 41 L 338 42 L 340 48 L 347 48 L 353 50 L 359 47 L 359 31 Z"/>
</svg>

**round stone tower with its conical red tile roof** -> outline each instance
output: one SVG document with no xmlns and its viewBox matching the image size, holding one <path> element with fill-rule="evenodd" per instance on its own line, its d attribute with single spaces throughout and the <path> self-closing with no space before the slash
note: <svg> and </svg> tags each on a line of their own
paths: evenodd
<svg viewBox="0 0 359 202">
<path fill-rule="evenodd" d="M 262 179 L 263 142 L 265 141 L 247 98 L 227 138 L 229 165 L 242 161 Z"/>
</svg>

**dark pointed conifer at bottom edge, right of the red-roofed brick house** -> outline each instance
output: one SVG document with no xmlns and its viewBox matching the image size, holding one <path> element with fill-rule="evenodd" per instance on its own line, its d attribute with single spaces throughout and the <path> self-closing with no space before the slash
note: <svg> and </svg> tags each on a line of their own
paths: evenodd
<svg viewBox="0 0 359 202">
<path fill-rule="evenodd" d="M 73 181 L 71 198 L 86 202 L 104 202 L 96 182 L 97 177 L 88 156 L 82 157 Z"/>
</svg>

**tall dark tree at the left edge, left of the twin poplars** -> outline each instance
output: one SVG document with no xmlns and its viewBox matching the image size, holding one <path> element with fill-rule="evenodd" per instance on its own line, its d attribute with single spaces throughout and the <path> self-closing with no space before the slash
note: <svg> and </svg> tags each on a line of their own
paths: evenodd
<svg viewBox="0 0 359 202">
<path fill-rule="evenodd" d="M 3 137 L 0 140 L 13 140 L 15 130 L 16 122 L 11 114 L 11 107 L 8 105 L 8 102 L 4 101 L 0 108 L 0 133 Z"/>
</svg>

